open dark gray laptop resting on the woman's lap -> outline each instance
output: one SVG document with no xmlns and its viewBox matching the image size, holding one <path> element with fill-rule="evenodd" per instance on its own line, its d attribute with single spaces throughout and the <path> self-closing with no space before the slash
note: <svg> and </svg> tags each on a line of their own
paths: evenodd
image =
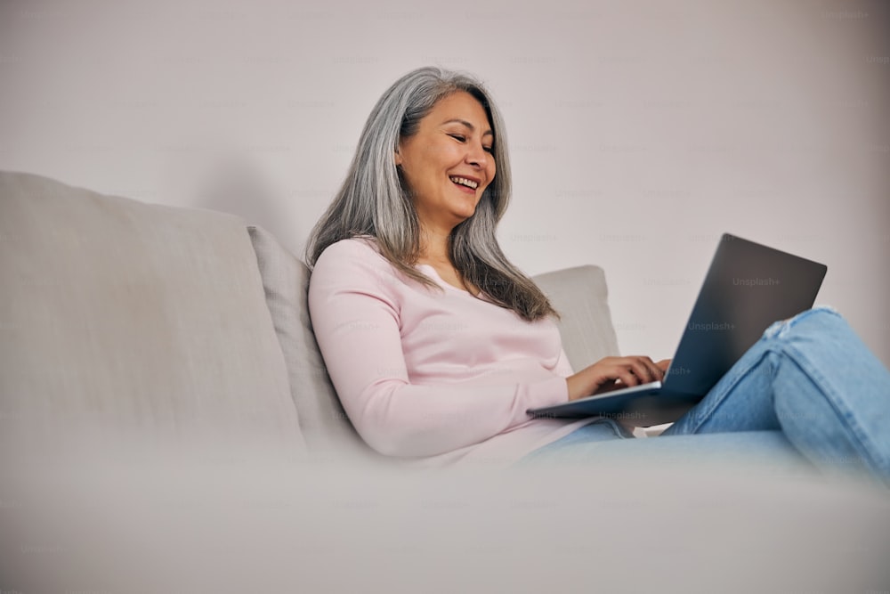
<svg viewBox="0 0 890 594">
<path fill-rule="evenodd" d="M 638 427 L 675 421 L 708 394 L 773 321 L 812 307 L 827 270 L 824 264 L 725 233 L 661 381 L 618 384 L 527 412 L 534 417 L 627 419 Z"/>
</svg>

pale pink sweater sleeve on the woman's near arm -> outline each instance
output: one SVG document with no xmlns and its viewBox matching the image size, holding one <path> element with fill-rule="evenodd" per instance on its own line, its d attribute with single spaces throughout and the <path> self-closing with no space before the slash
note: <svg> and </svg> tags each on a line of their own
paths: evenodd
<svg viewBox="0 0 890 594">
<path fill-rule="evenodd" d="M 412 385 L 401 348 L 392 266 L 360 240 L 328 247 L 312 272 L 312 327 L 336 393 L 368 445 L 392 456 L 433 456 L 480 443 L 568 400 L 560 357 L 552 378 L 490 386 Z"/>
</svg>

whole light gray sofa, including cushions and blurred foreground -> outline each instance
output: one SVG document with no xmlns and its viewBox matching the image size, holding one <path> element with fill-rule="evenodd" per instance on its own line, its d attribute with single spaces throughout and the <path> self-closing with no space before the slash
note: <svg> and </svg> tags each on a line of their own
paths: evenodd
<svg viewBox="0 0 890 594">
<path fill-rule="evenodd" d="M 305 266 L 237 216 L 0 173 L 0 278 L 0 591 L 890 582 L 890 505 L 855 481 L 392 468 L 337 402 Z M 601 269 L 536 280 L 574 366 L 618 352 Z"/>
</svg>

